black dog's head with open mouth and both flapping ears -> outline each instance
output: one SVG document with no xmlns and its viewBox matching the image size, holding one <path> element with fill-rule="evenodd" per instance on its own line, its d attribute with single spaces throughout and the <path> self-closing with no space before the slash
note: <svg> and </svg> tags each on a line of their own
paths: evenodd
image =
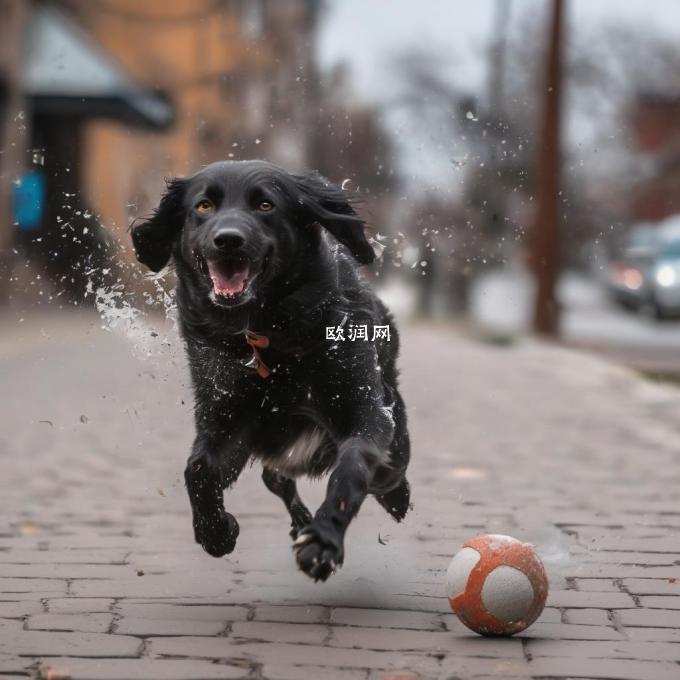
<svg viewBox="0 0 680 680">
<path fill-rule="evenodd" d="M 327 229 L 363 264 L 374 259 L 347 192 L 319 175 L 264 161 L 209 165 L 173 179 L 151 219 L 132 228 L 137 259 L 157 272 L 171 256 L 180 276 L 220 306 L 241 305 L 304 264 Z"/>
</svg>

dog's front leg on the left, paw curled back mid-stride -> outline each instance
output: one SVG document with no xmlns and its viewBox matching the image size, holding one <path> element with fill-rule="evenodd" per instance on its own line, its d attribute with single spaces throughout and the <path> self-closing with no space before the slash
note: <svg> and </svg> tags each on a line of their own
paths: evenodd
<svg viewBox="0 0 680 680">
<path fill-rule="evenodd" d="M 217 441 L 199 435 L 184 471 L 193 513 L 196 542 L 213 557 L 230 553 L 236 545 L 239 526 L 224 509 L 223 491 L 231 486 L 248 461 L 244 447 L 229 447 L 222 453 Z"/>
</svg>

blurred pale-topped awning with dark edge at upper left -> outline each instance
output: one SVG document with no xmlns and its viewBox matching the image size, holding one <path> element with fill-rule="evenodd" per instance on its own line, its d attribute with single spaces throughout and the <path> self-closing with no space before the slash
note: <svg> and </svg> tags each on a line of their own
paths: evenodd
<svg viewBox="0 0 680 680">
<path fill-rule="evenodd" d="M 115 118 L 151 128 L 173 122 L 167 98 L 137 86 L 63 12 L 38 8 L 25 30 L 23 82 L 34 111 Z"/>
</svg>

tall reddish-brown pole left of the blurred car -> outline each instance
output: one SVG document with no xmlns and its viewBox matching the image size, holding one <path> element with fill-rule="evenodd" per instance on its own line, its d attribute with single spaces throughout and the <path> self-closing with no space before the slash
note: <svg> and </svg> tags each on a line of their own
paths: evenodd
<svg viewBox="0 0 680 680">
<path fill-rule="evenodd" d="M 547 61 L 542 92 L 542 117 L 536 159 L 536 213 L 530 233 L 529 258 L 536 277 L 533 329 L 559 333 L 555 287 L 560 269 L 560 100 L 562 95 L 563 0 L 552 0 Z"/>
</svg>

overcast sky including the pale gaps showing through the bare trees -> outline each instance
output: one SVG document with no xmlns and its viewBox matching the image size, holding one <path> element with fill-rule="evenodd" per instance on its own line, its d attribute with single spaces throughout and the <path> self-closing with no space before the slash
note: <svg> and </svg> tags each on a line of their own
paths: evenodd
<svg viewBox="0 0 680 680">
<path fill-rule="evenodd" d="M 395 96 L 398 82 L 394 56 L 401 51 L 434 50 L 458 91 L 483 93 L 494 12 L 503 1 L 326 0 L 318 58 L 325 69 L 340 62 L 349 65 L 356 94 L 361 99 L 385 102 Z M 546 0 L 506 1 L 510 3 L 507 30 L 513 34 L 524 25 L 527 15 L 533 13 L 544 20 L 549 7 Z M 566 19 L 572 36 L 578 31 L 590 36 L 607 24 L 629 24 L 636 30 L 665 33 L 680 45 L 680 0 L 566 0 Z M 584 120 L 569 106 L 567 119 L 569 140 L 579 149 L 598 138 L 601 120 Z M 402 126 L 395 114 L 390 114 L 402 167 L 417 168 L 418 176 L 412 177 L 416 184 L 437 184 L 445 166 L 464 150 L 460 140 L 444 140 L 441 134 L 419 127 L 423 128 L 414 127 L 413 122 Z M 433 152 L 435 147 L 443 153 Z M 604 160 L 598 151 L 591 146 L 586 152 L 591 156 L 583 160 Z"/>
</svg>

